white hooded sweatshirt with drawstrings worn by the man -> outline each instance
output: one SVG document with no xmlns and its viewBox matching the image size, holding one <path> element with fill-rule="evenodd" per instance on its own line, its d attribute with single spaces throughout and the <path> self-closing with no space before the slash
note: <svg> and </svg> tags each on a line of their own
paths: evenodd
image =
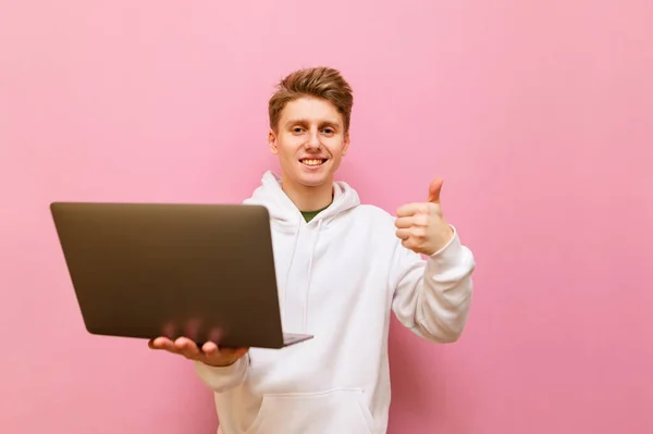
<svg viewBox="0 0 653 434">
<path fill-rule="evenodd" d="M 342 182 L 306 223 L 280 182 L 267 172 L 245 203 L 270 211 L 284 332 L 315 338 L 251 348 L 225 368 L 196 362 L 214 390 L 218 434 L 385 433 L 390 313 L 418 336 L 455 342 L 471 302 L 473 257 L 454 228 L 424 260 L 402 246 L 391 214 L 360 204 Z"/>
</svg>

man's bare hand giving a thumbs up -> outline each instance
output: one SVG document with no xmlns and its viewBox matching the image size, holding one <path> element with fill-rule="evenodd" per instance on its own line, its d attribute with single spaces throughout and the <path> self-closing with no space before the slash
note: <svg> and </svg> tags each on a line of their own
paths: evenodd
<svg viewBox="0 0 653 434">
<path fill-rule="evenodd" d="M 431 256 L 442 249 L 453 236 L 440 204 L 442 178 L 433 179 L 427 202 L 406 203 L 397 210 L 396 235 L 402 245 L 417 253 Z"/>
</svg>

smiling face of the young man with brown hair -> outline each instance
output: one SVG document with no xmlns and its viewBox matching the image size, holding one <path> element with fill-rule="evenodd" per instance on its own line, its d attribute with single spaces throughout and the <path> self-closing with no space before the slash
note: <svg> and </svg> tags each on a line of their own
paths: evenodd
<svg viewBox="0 0 653 434">
<path fill-rule="evenodd" d="M 279 156 L 284 182 L 318 187 L 331 185 L 349 146 L 349 136 L 335 106 L 305 97 L 285 106 L 276 133 L 269 133 L 268 144 L 272 153 Z"/>
</svg>

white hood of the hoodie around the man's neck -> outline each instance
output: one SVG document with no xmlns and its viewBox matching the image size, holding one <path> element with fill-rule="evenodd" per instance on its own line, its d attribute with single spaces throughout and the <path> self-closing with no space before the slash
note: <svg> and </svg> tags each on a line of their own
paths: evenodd
<svg viewBox="0 0 653 434">
<path fill-rule="evenodd" d="M 262 204 L 270 212 L 272 224 L 282 228 L 295 230 L 304 221 L 301 213 L 281 188 L 281 176 L 268 171 L 263 173 L 261 185 L 257 187 L 246 204 Z M 333 201 L 321 211 L 311 223 L 328 224 L 342 212 L 360 204 L 360 198 L 354 188 L 345 182 L 333 183 Z"/>
</svg>

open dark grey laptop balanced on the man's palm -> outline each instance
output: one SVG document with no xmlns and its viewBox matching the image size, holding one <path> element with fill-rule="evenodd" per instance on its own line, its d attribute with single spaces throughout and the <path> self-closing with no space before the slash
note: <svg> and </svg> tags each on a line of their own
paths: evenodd
<svg viewBox="0 0 653 434">
<path fill-rule="evenodd" d="M 52 202 L 86 330 L 283 348 L 270 215 L 258 204 Z"/>
</svg>

